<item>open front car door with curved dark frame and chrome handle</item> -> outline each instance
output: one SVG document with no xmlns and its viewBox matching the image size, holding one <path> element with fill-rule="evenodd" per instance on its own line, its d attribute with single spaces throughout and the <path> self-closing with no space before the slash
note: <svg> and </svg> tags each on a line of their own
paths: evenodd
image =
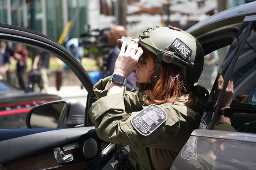
<svg viewBox="0 0 256 170">
<path fill-rule="evenodd" d="M 21 43 L 58 57 L 86 88 L 86 107 L 95 100 L 93 82 L 84 67 L 55 40 L 25 28 L 6 24 L 0 24 L 0 40 Z M 76 121 L 87 126 L 84 119 L 86 109 L 81 108 L 82 121 Z M 113 148 L 114 144 L 98 138 L 95 127 L 2 129 L 0 170 L 100 170 L 113 156 Z"/>
</svg>

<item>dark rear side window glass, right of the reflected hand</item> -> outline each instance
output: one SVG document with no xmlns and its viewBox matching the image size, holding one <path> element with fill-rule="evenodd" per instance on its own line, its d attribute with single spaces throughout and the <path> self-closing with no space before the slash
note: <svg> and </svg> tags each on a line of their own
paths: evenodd
<svg viewBox="0 0 256 170">
<path fill-rule="evenodd" d="M 238 113 L 231 117 L 239 132 L 256 133 L 256 24 L 254 24 L 231 75 L 234 81 L 233 107 Z"/>
</svg>

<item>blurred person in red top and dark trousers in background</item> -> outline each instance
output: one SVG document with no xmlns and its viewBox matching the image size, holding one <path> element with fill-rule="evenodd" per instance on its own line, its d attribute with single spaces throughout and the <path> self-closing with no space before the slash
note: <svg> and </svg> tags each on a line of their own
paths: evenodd
<svg viewBox="0 0 256 170">
<path fill-rule="evenodd" d="M 14 50 L 14 59 L 17 60 L 16 73 L 19 81 L 20 88 L 22 90 L 26 89 L 24 81 L 24 73 L 26 70 L 26 59 L 28 57 L 28 51 L 24 48 L 23 44 L 18 44 Z"/>
</svg>

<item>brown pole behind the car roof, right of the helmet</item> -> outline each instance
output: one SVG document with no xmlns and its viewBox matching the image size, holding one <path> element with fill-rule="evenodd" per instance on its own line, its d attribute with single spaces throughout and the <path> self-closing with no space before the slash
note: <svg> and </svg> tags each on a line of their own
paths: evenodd
<svg viewBox="0 0 256 170">
<path fill-rule="evenodd" d="M 229 0 L 218 0 L 218 12 L 222 12 L 224 10 L 227 10 L 229 8 Z M 223 47 L 218 50 L 219 56 L 220 56 L 220 66 L 223 63 L 226 54 L 228 53 L 230 45 L 227 47 Z"/>
</svg>

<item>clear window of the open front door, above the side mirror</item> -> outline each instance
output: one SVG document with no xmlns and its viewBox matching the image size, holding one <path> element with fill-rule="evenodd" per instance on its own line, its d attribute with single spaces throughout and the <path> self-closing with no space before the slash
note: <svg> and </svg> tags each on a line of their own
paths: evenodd
<svg viewBox="0 0 256 170">
<path fill-rule="evenodd" d="M 42 103 L 77 99 L 86 104 L 87 91 L 75 73 L 54 55 L 18 43 L 1 42 L 0 47 L 4 55 L 4 69 L 0 71 L 0 129 L 26 128 L 28 111 Z M 32 58 L 38 59 L 37 65 Z"/>
</svg>

